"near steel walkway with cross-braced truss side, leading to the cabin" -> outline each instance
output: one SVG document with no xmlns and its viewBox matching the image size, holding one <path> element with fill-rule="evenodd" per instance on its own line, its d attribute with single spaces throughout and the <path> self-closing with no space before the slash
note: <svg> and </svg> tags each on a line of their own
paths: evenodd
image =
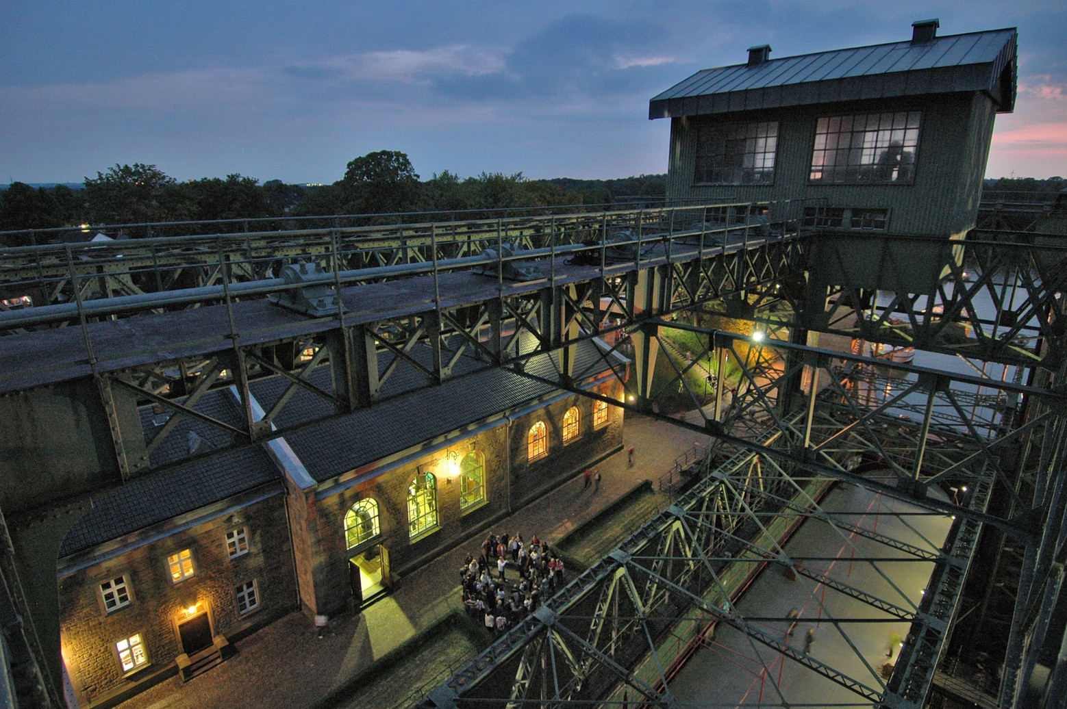
<svg viewBox="0 0 1067 709">
<path fill-rule="evenodd" d="M 0 390 L 93 376 L 120 467 L 132 474 L 149 468 L 154 453 L 170 438 L 184 435 L 184 419 L 213 426 L 221 436 L 218 450 L 284 435 L 287 425 L 305 425 L 427 383 L 546 352 L 560 350 L 562 367 L 569 370 L 569 344 L 701 299 L 785 278 L 802 268 L 803 240 L 786 230 L 795 224 L 752 222 L 759 209 L 744 205 L 714 208 L 718 217 L 732 215 L 732 226 L 694 226 L 692 219 L 707 219 L 710 210 L 658 210 L 651 223 L 667 231 L 646 224 L 648 233 L 611 231 L 610 239 L 592 245 L 560 245 L 563 235 L 574 232 L 560 217 L 546 220 L 536 235 L 527 221 L 524 228 L 530 239 L 537 236 L 534 245 L 539 248 L 527 252 L 526 262 L 540 269 L 527 281 L 503 277 L 508 261 L 499 252 L 495 260 L 460 258 L 388 272 L 334 271 L 320 283 L 332 285 L 339 297 L 318 318 L 291 313 L 262 299 L 239 301 L 232 293 L 241 287 L 270 292 L 280 286 L 229 279 L 220 290 L 223 303 L 214 306 L 210 303 L 220 295 L 196 289 L 188 301 L 175 291 L 133 305 L 128 299 L 108 299 L 0 313 L 0 326 L 17 322 L 23 328 L 52 323 L 71 309 L 81 316 L 76 318 L 80 327 L 0 338 L 5 360 L 16 362 L 0 374 Z M 648 210 L 635 215 L 649 220 Z M 589 219 L 601 233 L 615 228 L 612 220 L 625 216 L 611 212 Z M 554 224 L 567 228 L 551 232 Z M 488 274 L 472 270 L 478 264 Z M 681 292 L 684 297 L 675 300 Z M 202 307 L 154 312 L 171 307 L 174 299 Z M 108 310 L 114 301 L 121 302 Z M 153 312 L 125 317 L 138 307 Z M 330 375 L 322 376 L 324 371 Z M 286 385 L 276 399 L 264 402 L 265 415 L 259 417 L 248 403 L 249 387 L 264 377 L 281 377 Z M 200 405 L 206 391 L 223 387 L 235 387 L 240 418 Z M 309 416 L 301 414 L 296 423 L 289 417 L 286 424 L 283 414 L 297 391 L 310 392 L 320 406 Z M 144 419 L 143 407 L 149 405 L 156 408 L 152 416 L 170 417 L 165 424 L 129 425 L 133 417 Z M 142 440 L 141 430 L 148 432 L 147 439 Z"/>
</svg>

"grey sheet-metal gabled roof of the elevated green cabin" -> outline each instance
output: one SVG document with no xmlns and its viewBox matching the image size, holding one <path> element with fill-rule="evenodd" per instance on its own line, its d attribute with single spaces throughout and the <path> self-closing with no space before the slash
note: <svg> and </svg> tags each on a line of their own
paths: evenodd
<svg viewBox="0 0 1067 709">
<path fill-rule="evenodd" d="M 989 92 L 1000 112 L 1010 112 L 1016 36 L 1006 28 L 702 69 L 655 96 L 649 117 L 971 91 Z M 1005 67 L 1009 86 L 1001 82 Z"/>
</svg>

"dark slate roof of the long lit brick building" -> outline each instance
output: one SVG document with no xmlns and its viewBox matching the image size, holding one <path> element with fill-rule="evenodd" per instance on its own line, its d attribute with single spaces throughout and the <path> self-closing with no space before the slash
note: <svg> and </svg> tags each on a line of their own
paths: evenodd
<svg viewBox="0 0 1067 709">
<path fill-rule="evenodd" d="M 607 369 L 592 342 L 580 343 L 577 352 L 575 378 Z M 428 352 L 415 350 L 414 354 L 416 358 L 428 362 Z M 389 360 L 388 355 L 380 355 L 381 367 L 386 366 Z M 555 362 L 554 355 L 540 355 L 528 360 L 526 369 L 530 373 L 552 378 Z M 328 388 L 329 369 L 320 367 L 312 374 L 312 382 Z M 494 368 L 489 362 L 472 357 L 461 357 L 453 373 L 459 378 L 441 386 L 427 387 L 425 376 L 418 370 L 413 367 L 400 368 L 383 391 L 400 396 L 370 408 L 287 433 L 285 439 L 315 480 L 322 482 L 360 465 L 556 391 L 551 385 Z M 461 376 L 467 373 L 471 373 L 469 376 Z M 255 382 L 251 387 L 260 405 L 268 408 L 268 403 L 276 401 L 287 384 L 281 377 L 272 377 Z M 331 413 L 332 406 L 325 399 L 301 388 L 286 404 L 277 421 L 280 425 L 287 428 L 325 416 Z M 205 393 L 193 408 L 234 425 L 241 425 L 236 416 L 236 407 L 225 390 Z M 149 437 L 157 429 L 152 419 L 152 408 L 142 409 L 142 426 Z M 181 417 L 174 432 L 153 454 L 153 466 L 184 457 L 190 432 L 211 446 L 223 448 L 229 442 L 228 434 L 219 429 L 190 417 Z M 268 456 L 264 446 L 258 445 L 220 450 L 212 455 L 145 473 L 94 500 L 93 509 L 75 522 L 64 537 L 60 558 L 262 485 L 275 481 L 281 483 L 281 479 L 277 466 Z"/>
</svg>

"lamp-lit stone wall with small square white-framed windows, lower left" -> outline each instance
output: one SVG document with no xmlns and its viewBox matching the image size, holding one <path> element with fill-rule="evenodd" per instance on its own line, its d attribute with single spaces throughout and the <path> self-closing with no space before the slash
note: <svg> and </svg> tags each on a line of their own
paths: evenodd
<svg viewBox="0 0 1067 709">
<path fill-rule="evenodd" d="M 176 527 L 172 521 L 170 527 Z M 229 558 L 226 532 L 244 528 L 246 553 Z M 141 538 L 137 538 L 140 536 Z M 138 544 L 143 541 L 144 543 Z M 207 613 L 213 634 L 250 632 L 296 606 L 292 550 L 284 495 L 273 495 L 236 512 L 194 522 L 188 529 L 152 529 L 123 541 L 125 551 L 78 566 L 59 578 L 62 649 L 79 702 L 100 706 L 117 702 L 138 684 L 176 671 L 182 652 L 177 626 Z M 168 557 L 191 549 L 193 576 L 174 583 Z M 100 584 L 124 576 L 131 602 L 110 613 Z M 239 615 L 236 587 L 255 581 L 258 607 Z M 115 643 L 140 633 L 147 663 L 123 672 Z"/>
</svg>

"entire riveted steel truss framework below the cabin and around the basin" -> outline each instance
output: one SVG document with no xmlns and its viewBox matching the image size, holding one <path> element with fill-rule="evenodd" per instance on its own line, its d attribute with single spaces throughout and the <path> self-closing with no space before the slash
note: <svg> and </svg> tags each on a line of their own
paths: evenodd
<svg viewBox="0 0 1067 709">
<path fill-rule="evenodd" d="M 1017 233 L 954 242 L 928 292 L 887 294 L 850 285 L 863 278 L 848 277 L 847 242 L 842 283 L 813 278 L 818 235 L 781 219 L 785 211 L 690 206 L 333 228 L 300 240 L 243 233 L 9 249 L 0 255 L 2 399 L 15 410 L 42 389 L 69 391 L 111 444 L 107 461 L 64 477 L 61 488 L 47 477 L 17 489 L 5 481 L 0 619 L 17 670 L 10 686 L 58 703 L 54 549 L 93 496 L 153 468 L 174 421 L 193 418 L 226 445 L 254 445 L 315 424 L 282 425 L 298 390 L 327 402 L 322 420 L 399 396 L 401 370 L 433 385 L 478 368 L 523 372 L 548 352 L 558 366 L 547 381 L 579 390 L 573 345 L 623 336 L 633 400 L 610 403 L 658 416 L 665 393 L 681 389 L 700 418 L 676 422 L 712 437 L 708 460 L 671 507 L 425 706 L 684 706 L 671 689 L 684 660 L 728 632 L 746 639 L 777 688 L 763 706 L 827 706 L 775 683 L 786 661 L 813 686 L 848 693 L 840 706 L 924 706 L 947 691 L 939 667 L 977 662 L 982 638 L 984 661 L 1005 667 L 989 706 L 1029 706 L 1035 686 L 1062 689 L 1067 248 Z M 887 258 L 881 268 L 909 265 Z M 708 317 L 747 320 L 766 339 L 690 324 Z M 676 356 L 667 328 L 706 347 Z M 917 348 L 973 370 L 819 349 L 815 332 Z M 731 392 L 720 377 L 701 397 L 688 375 L 715 358 L 739 366 L 739 380 Z M 657 359 L 672 381 L 653 378 Z M 324 367 L 327 385 L 312 376 Z M 249 383 L 266 376 L 289 387 L 260 417 Z M 197 405 L 221 386 L 244 403 L 239 425 Z M 172 414 L 150 438 L 139 424 L 145 407 Z M 43 445 L 47 433 L 25 445 Z M 828 506 L 833 488 L 902 501 L 879 515 L 895 523 L 879 532 L 857 520 L 859 510 Z M 918 533 L 921 520 L 944 529 Z M 791 552 L 793 535 L 813 526 L 832 530 L 883 583 L 865 587 L 828 557 Z M 921 598 L 894 587 L 901 564 L 924 569 Z M 744 592 L 768 566 L 818 598 L 851 648 L 835 657 L 849 660 L 798 651 L 768 631 L 780 615 L 744 610 Z M 827 594 L 862 610 L 842 615 Z M 860 648 L 872 622 L 909 628 L 885 676 Z"/>
</svg>

